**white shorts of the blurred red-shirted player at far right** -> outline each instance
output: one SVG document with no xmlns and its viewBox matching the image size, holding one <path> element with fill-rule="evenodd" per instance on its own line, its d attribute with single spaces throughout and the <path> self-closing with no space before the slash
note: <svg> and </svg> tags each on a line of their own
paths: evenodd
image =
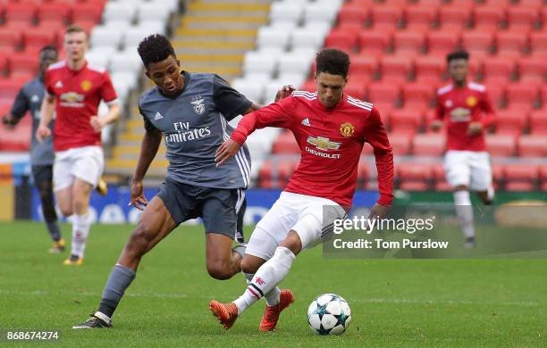
<svg viewBox="0 0 547 348">
<path fill-rule="evenodd" d="M 450 186 L 486 191 L 492 185 L 490 156 L 486 152 L 450 150 L 444 155 L 444 172 Z"/>
</svg>

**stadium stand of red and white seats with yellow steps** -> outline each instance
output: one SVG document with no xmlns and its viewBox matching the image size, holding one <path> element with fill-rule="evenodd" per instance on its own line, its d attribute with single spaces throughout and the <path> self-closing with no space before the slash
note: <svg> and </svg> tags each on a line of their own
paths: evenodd
<svg viewBox="0 0 547 348">
<path fill-rule="evenodd" d="M 44 43 L 60 45 L 63 29 L 78 23 L 91 32 L 89 62 L 107 67 L 130 119 L 116 138 L 109 173 L 130 175 L 142 120 L 136 110 L 143 84 L 135 47 L 151 32 L 169 33 L 184 69 L 212 71 L 258 104 L 273 101 L 285 84 L 315 90 L 314 54 L 323 46 L 351 56 L 346 92 L 382 113 L 403 190 L 448 190 L 442 172 L 445 137 L 430 133 L 435 90 L 450 83 L 445 55 L 471 53 L 470 78 L 487 87 L 498 114 L 486 137 L 498 189 L 547 188 L 547 4 L 541 0 L 178 0 L 4 1 L 0 6 L 0 109 L 36 70 L 31 58 Z M 178 28 L 174 25 L 180 22 Z M 15 91 L 15 92 L 13 92 Z M 231 122 L 237 124 L 237 120 Z M 26 127 L 29 127 L 27 125 Z M 0 151 L 25 150 L 28 128 L 7 135 Z M 284 186 L 296 169 L 299 147 L 290 133 L 261 129 L 248 138 L 257 186 Z M 375 167 L 366 145 L 360 188 L 374 188 Z M 164 149 L 154 162 L 161 176 Z M 416 170 L 421 166 L 421 170 Z M 528 170 L 526 174 L 526 170 Z"/>
</svg>

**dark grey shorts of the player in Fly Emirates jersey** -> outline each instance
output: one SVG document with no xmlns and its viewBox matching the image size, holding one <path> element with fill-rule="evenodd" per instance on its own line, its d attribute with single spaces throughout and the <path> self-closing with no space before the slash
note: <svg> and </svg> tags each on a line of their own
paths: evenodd
<svg viewBox="0 0 547 348">
<path fill-rule="evenodd" d="M 242 230 L 245 213 L 245 191 L 241 188 L 223 189 L 193 186 L 165 178 L 157 196 L 178 225 L 190 219 L 201 218 L 206 233 L 218 233 L 235 239 Z"/>
</svg>

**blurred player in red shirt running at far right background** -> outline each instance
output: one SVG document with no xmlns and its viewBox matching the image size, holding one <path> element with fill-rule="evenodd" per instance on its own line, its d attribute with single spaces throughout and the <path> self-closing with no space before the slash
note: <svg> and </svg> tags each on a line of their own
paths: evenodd
<svg viewBox="0 0 547 348">
<path fill-rule="evenodd" d="M 430 123 L 433 131 L 446 125 L 448 145 L 444 155 L 446 180 L 454 188 L 454 204 L 466 238 L 465 246 L 475 246 L 473 207 L 469 191 L 476 191 L 484 204 L 492 204 L 494 190 L 490 157 L 484 132 L 492 126 L 495 112 L 486 88 L 467 80 L 469 54 L 447 55 L 452 83 L 437 91 L 437 108 Z"/>
</svg>

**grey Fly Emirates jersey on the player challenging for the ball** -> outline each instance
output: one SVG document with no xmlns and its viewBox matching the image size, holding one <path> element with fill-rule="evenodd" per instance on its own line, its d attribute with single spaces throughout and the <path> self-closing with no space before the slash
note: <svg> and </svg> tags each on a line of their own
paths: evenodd
<svg viewBox="0 0 547 348">
<path fill-rule="evenodd" d="M 167 177 L 195 186 L 247 187 L 247 146 L 218 168 L 215 152 L 233 131 L 227 120 L 247 111 L 252 103 L 215 74 L 181 73 L 186 80 L 180 95 L 169 98 L 152 87 L 139 100 L 145 128 L 159 129 L 164 135 Z"/>
</svg>

